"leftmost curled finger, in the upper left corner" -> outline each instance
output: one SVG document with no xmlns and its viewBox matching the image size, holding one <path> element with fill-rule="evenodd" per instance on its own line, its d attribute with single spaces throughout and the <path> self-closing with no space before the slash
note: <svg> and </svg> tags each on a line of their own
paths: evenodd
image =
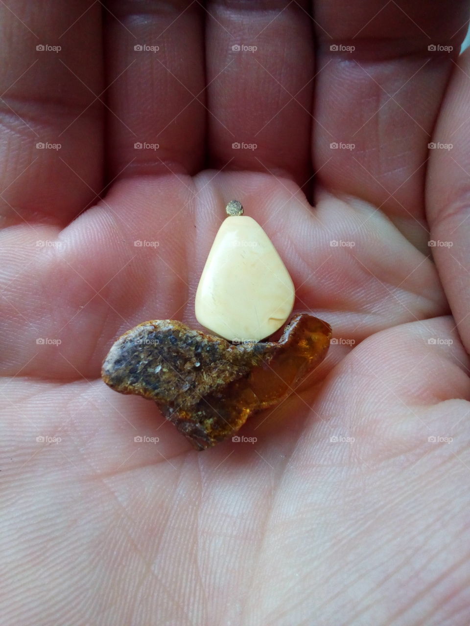
<svg viewBox="0 0 470 626">
<path fill-rule="evenodd" d="M 102 189 L 100 6 L 0 4 L 4 223 L 66 223 Z"/>
</svg>

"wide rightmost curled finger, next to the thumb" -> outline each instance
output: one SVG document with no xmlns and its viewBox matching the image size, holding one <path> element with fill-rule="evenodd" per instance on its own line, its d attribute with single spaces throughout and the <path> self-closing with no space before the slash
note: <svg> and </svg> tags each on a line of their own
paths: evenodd
<svg viewBox="0 0 470 626">
<path fill-rule="evenodd" d="M 345 0 L 315 4 L 324 68 L 314 108 L 318 182 L 382 208 L 426 247 L 427 144 L 466 32 L 467 3 L 440 0 L 430 11 L 412 1 L 356 1 L 351 9 Z M 353 148 L 330 148 L 340 143 Z"/>
</svg>

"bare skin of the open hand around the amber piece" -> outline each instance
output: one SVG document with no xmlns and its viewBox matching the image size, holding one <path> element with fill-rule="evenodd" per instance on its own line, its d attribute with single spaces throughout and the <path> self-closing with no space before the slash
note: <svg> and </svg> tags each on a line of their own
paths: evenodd
<svg viewBox="0 0 470 626">
<path fill-rule="evenodd" d="M 0 4 L 3 623 L 467 625 L 467 2 L 188 5 Z M 197 453 L 100 366 L 232 198 L 338 342 Z"/>
</svg>

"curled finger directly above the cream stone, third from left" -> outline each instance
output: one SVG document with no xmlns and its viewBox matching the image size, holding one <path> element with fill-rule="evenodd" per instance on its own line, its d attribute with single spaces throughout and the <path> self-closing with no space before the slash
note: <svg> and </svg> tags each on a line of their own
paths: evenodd
<svg viewBox="0 0 470 626">
<path fill-rule="evenodd" d="M 207 7 L 209 153 L 213 167 L 310 177 L 313 41 L 306 3 L 216 1 Z"/>
</svg>

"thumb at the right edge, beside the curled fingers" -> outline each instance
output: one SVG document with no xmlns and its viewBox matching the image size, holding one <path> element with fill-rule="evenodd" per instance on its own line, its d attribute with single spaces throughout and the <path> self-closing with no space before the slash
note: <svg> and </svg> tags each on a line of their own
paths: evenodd
<svg viewBox="0 0 470 626">
<path fill-rule="evenodd" d="M 454 66 L 432 140 L 427 178 L 431 251 L 470 352 L 470 51 Z"/>
</svg>

